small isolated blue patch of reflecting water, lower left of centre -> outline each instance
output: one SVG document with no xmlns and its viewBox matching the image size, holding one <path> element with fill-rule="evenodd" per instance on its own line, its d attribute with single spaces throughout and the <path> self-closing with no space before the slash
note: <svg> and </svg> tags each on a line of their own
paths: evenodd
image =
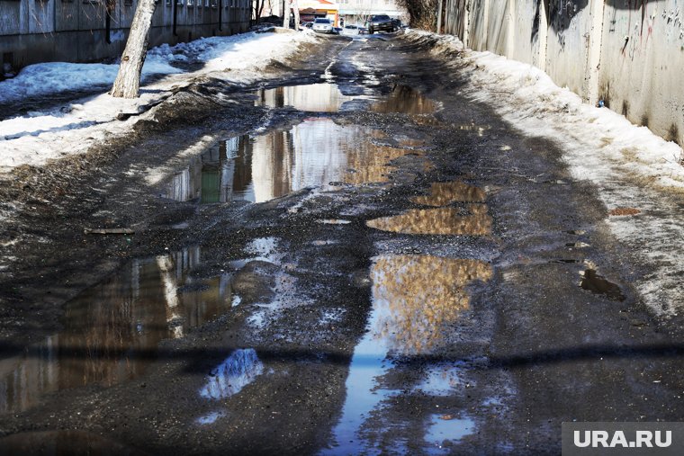
<svg viewBox="0 0 684 456">
<path fill-rule="evenodd" d="M 238 349 L 214 368 L 206 385 L 200 389 L 200 396 L 208 399 L 228 398 L 240 392 L 264 372 L 253 348 Z"/>
</svg>

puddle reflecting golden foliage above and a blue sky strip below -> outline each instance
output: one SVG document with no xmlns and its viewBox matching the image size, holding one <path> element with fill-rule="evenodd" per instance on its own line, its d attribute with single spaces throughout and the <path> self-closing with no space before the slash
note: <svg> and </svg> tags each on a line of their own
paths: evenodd
<svg viewBox="0 0 684 456">
<path fill-rule="evenodd" d="M 369 331 L 356 345 L 349 367 L 347 398 L 334 430 L 337 446 L 324 454 L 359 454 L 370 443 L 360 431 L 393 391 L 379 388 L 393 367 L 388 357 L 426 354 L 446 325 L 469 306 L 465 287 L 491 278 L 491 266 L 478 260 L 428 255 L 387 255 L 374 259 L 373 310 Z"/>
</svg>

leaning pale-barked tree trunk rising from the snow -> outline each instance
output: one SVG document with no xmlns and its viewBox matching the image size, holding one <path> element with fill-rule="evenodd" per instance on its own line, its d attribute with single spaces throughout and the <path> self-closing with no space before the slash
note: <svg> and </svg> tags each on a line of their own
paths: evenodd
<svg viewBox="0 0 684 456">
<path fill-rule="evenodd" d="M 112 87 L 112 96 L 138 98 L 140 74 L 148 52 L 149 29 L 152 26 L 152 14 L 156 7 L 155 0 L 139 0 L 133 23 L 130 25 L 126 49 L 123 50 L 121 56 L 119 74 Z"/>
</svg>

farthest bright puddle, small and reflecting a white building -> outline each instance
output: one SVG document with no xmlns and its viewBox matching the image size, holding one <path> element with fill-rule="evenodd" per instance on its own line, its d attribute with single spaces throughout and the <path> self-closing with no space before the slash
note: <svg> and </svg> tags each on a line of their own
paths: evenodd
<svg viewBox="0 0 684 456">
<path fill-rule="evenodd" d="M 354 97 L 343 95 L 338 85 L 329 83 L 259 89 L 255 94 L 255 106 L 292 106 L 298 111 L 309 112 L 338 112 L 342 104 L 354 100 Z"/>
</svg>

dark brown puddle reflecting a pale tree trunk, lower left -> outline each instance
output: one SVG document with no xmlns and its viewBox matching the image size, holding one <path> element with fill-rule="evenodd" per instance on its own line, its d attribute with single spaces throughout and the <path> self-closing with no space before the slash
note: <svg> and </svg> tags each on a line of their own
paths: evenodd
<svg viewBox="0 0 684 456">
<path fill-rule="evenodd" d="M 135 378 L 162 339 L 228 311 L 228 274 L 202 282 L 188 276 L 200 254 L 195 246 L 133 261 L 67 303 L 62 331 L 0 361 L 0 414 L 33 407 L 59 389 Z"/>
</svg>

